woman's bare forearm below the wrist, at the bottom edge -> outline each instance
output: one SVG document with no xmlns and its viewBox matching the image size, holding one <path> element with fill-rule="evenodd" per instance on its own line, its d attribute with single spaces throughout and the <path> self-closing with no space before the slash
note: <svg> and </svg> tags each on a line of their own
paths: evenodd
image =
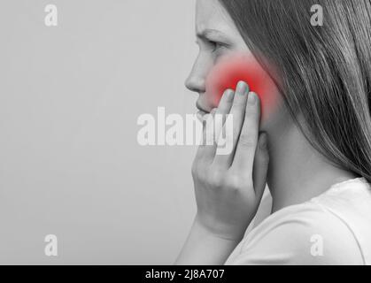
<svg viewBox="0 0 371 283">
<path fill-rule="evenodd" d="M 222 265 L 236 248 L 239 241 L 223 239 L 207 231 L 197 218 L 190 229 L 177 265 Z"/>
</svg>

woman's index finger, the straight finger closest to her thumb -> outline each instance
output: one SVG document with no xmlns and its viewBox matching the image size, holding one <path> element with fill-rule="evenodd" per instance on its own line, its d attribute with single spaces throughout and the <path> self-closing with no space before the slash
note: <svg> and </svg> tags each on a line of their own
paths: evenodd
<svg viewBox="0 0 371 283">
<path fill-rule="evenodd" d="M 259 138 L 260 102 L 259 97 L 249 93 L 248 102 L 244 112 L 243 126 L 238 137 L 236 154 L 233 160 L 233 170 L 249 172 L 252 177 L 255 151 Z"/>
</svg>

